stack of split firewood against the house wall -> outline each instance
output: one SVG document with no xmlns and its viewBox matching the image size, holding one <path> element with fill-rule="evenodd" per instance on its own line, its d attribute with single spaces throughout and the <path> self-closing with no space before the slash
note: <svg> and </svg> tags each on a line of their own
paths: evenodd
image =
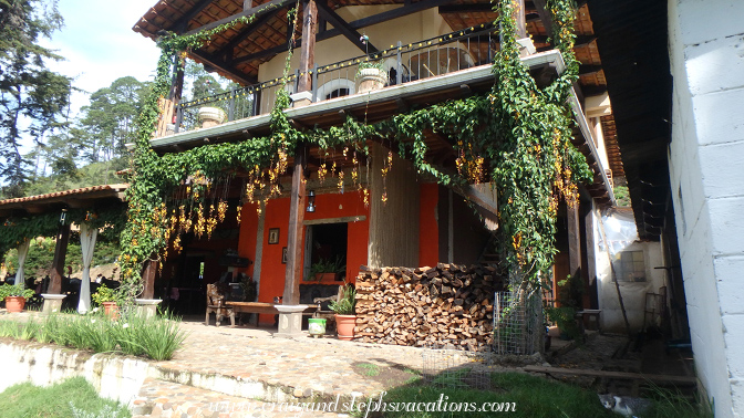
<svg viewBox="0 0 744 418">
<path fill-rule="evenodd" d="M 358 341 L 478 349 L 493 342 L 494 267 L 362 269 L 356 276 Z"/>
</svg>

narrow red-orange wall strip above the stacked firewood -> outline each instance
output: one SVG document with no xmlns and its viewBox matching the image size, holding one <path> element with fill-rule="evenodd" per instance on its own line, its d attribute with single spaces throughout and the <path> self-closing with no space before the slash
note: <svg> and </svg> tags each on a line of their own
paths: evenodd
<svg viewBox="0 0 744 418">
<path fill-rule="evenodd" d="M 418 267 L 434 267 L 440 260 L 440 230 L 436 221 L 438 185 L 422 184 L 420 190 Z"/>
</svg>

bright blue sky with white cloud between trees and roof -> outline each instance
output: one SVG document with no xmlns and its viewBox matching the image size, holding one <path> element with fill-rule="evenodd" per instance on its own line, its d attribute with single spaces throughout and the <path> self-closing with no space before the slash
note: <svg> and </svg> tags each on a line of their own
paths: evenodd
<svg viewBox="0 0 744 418">
<path fill-rule="evenodd" d="M 132 27 L 156 3 L 157 0 L 59 0 L 64 28 L 42 43 L 65 61 L 50 62 L 49 67 L 75 77 L 73 85 L 89 94 L 126 75 L 152 80 L 159 50 Z M 86 95 L 74 94 L 72 114 L 86 104 Z"/>
</svg>

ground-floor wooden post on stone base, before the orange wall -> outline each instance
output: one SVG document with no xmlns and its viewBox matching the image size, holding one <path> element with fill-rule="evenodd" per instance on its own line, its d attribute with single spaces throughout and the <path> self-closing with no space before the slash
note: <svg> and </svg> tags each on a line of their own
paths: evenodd
<svg viewBox="0 0 744 418">
<path fill-rule="evenodd" d="M 292 190 L 289 196 L 289 226 L 287 228 L 287 270 L 282 304 L 300 303 L 300 281 L 302 280 L 302 221 L 304 220 L 304 169 L 307 146 L 299 145 L 294 153 Z"/>
</svg>

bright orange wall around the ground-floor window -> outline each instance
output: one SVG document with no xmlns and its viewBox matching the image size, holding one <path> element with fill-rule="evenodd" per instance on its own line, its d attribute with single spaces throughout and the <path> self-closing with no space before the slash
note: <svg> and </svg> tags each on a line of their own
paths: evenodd
<svg viewBox="0 0 744 418">
<path fill-rule="evenodd" d="M 246 208 L 244 208 L 246 210 Z M 254 207 L 251 210 L 255 210 Z M 249 212 L 246 212 L 249 213 Z M 306 220 L 365 216 L 369 209 L 364 208 L 361 192 L 328 194 L 316 196 L 316 211 L 304 212 Z M 258 218 L 250 216 L 248 223 L 257 224 Z M 244 222 L 246 217 L 244 216 Z M 285 293 L 285 274 L 287 264 L 281 263 L 281 249 L 287 247 L 287 224 L 289 222 L 289 198 L 271 199 L 266 207 L 264 220 L 264 249 L 261 257 L 261 273 L 259 283 L 259 302 L 273 302 L 273 297 Z M 349 222 L 347 243 L 347 280 L 353 282 L 359 274 L 359 267 L 366 264 L 366 245 L 369 241 L 369 219 L 359 222 Z M 245 230 L 244 230 L 245 228 Z M 240 254 L 256 253 L 256 229 L 248 224 L 240 226 Z M 279 228 L 279 243 L 269 244 L 269 230 Z M 245 236 L 244 236 L 245 231 Z M 304 232 L 301 242 L 304 242 Z M 250 257 L 250 255 L 248 255 Z M 304 257 L 304 254 L 303 254 Z M 252 260 L 252 258 L 251 258 Z M 260 315 L 261 324 L 273 324 L 271 315 Z"/>
</svg>

